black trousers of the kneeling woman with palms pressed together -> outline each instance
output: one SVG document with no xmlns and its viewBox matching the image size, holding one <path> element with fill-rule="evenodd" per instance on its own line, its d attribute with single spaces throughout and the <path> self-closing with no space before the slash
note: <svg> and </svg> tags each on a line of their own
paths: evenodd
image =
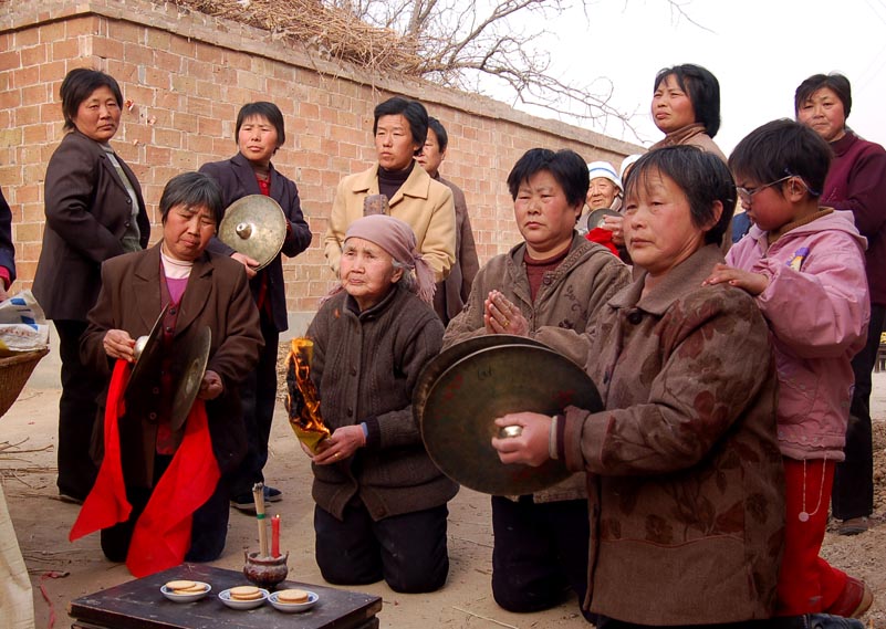
<svg viewBox="0 0 886 629">
<path fill-rule="evenodd" d="M 563 602 L 571 588 L 582 605 L 591 537 L 587 500 L 492 496 L 492 531 L 496 602 L 510 611 L 539 611 Z M 585 618 L 593 621 L 590 614 Z"/>
</svg>

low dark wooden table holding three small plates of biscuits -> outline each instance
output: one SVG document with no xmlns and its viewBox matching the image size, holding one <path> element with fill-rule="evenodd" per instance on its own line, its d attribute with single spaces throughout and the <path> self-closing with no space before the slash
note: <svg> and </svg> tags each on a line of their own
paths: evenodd
<svg viewBox="0 0 886 629">
<path fill-rule="evenodd" d="M 160 586 L 174 579 L 208 583 L 206 597 L 195 602 L 173 602 Z M 201 564 L 183 564 L 149 577 L 132 580 L 72 601 L 67 614 L 77 629 L 376 629 L 382 598 L 313 584 L 284 581 L 278 589 L 298 587 L 320 596 L 301 614 L 283 614 L 265 601 L 259 608 L 226 607 L 218 594 L 249 585 L 242 573 Z"/>
</svg>

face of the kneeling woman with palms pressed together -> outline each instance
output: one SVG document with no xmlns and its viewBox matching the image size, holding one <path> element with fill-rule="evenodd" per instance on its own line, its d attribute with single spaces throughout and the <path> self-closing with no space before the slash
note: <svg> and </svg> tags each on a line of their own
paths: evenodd
<svg viewBox="0 0 886 629">
<path fill-rule="evenodd" d="M 513 213 L 530 256 L 544 260 L 560 253 L 572 242 L 572 231 L 582 213 L 582 203 L 570 206 L 554 176 L 548 170 L 540 170 L 520 184 Z"/>
</svg>

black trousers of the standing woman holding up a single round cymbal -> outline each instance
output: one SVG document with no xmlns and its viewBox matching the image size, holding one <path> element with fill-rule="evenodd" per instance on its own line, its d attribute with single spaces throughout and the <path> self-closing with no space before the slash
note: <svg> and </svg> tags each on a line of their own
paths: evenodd
<svg viewBox="0 0 886 629">
<path fill-rule="evenodd" d="M 280 333 L 273 322 L 261 315 L 261 335 L 264 347 L 259 364 L 240 387 L 243 423 L 247 431 L 247 454 L 231 474 L 231 497 L 252 493 L 252 485 L 264 482 L 262 470 L 268 462 L 268 441 L 277 402 L 277 350 Z"/>
</svg>

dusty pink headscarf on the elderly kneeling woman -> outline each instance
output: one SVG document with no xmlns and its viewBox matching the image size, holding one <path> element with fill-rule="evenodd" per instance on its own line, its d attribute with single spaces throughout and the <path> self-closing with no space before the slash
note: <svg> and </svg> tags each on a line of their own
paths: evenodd
<svg viewBox="0 0 886 629">
<path fill-rule="evenodd" d="M 409 223 L 386 214 L 363 217 L 351 223 L 345 232 L 348 238 L 362 238 L 384 249 L 388 255 L 415 273 L 414 292 L 423 302 L 434 302 L 434 271 L 416 249 L 416 239 Z"/>
</svg>

